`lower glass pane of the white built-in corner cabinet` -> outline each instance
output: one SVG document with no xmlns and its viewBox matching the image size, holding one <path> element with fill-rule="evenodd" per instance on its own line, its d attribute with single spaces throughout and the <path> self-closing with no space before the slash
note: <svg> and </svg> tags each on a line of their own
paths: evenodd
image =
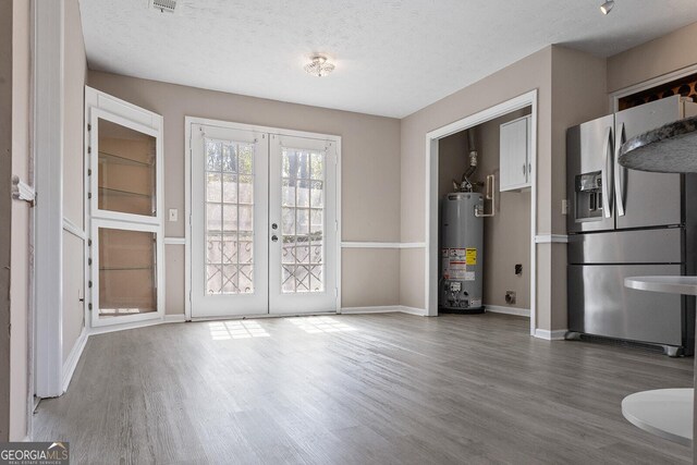
<svg viewBox="0 0 697 465">
<path fill-rule="evenodd" d="M 99 228 L 99 317 L 157 311 L 157 235 Z"/>
</svg>

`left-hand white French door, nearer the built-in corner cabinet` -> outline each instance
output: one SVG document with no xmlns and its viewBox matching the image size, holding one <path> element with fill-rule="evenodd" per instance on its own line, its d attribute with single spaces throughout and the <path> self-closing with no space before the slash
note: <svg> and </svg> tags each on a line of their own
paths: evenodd
<svg viewBox="0 0 697 465">
<path fill-rule="evenodd" d="M 268 313 L 268 135 L 192 125 L 192 317 Z"/>
</svg>

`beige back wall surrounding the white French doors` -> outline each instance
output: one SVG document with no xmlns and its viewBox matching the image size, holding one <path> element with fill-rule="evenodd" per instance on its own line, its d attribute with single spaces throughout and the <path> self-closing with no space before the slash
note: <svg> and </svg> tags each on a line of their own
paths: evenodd
<svg viewBox="0 0 697 465">
<path fill-rule="evenodd" d="M 342 136 L 342 240 L 400 240 L 400 121 L 90 71 L 88 84 L 164 117 L 166 235 L 184 235 L 184 117 Z M 167 313 L 184 311 L 184 250 L 168 245 Z M 342 306 L 396 305 L 395 249 L 342 252 Z"/>
</svg>

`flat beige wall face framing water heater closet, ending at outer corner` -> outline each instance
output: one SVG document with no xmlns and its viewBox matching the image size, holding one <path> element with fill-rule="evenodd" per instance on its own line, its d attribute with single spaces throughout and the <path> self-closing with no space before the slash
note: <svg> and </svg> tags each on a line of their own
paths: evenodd
<svg viewBox="0 0 697 465">
<path fill-rule="evenodd" d="M 402 241 L 425 241 L 425 140 L 429 131 L 469 117 L 492 106 L 538 90 L 538 163 L 551 166 L 551 60 L 552 47 L 547 47 L 503 70 L 439 100 L 402 120 Z M 542 175 L 542 181 L 551 178 Z M 547 183 L 550 181 L 548 180 Z M 545 185 L 545 184 L 542 184 Z M 538 189 L 537 230 L 549 233 L 551 221 L 543 211 L 550 209 L 549 191 Z M 408 210 L 408 211 L 407 211 Z M 547 246 L 543 244 L 542 246 Z M 425 254 L 423 249 L 401 250 L 401 303 L 425 308 Z M 540 328 L 550 326 L 552 304 L 549 295 L 538 299 Z M 565 308 L 563 309 L 565 313 Z"/>
</svg>

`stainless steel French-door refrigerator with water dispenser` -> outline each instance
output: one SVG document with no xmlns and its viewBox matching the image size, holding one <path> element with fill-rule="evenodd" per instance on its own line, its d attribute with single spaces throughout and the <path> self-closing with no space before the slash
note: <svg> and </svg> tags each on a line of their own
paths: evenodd
<svg viewBox="0 0 697 465">
<path fill-rule="evenodd" d="M 629 290 L 632 276 L 695 274 L 697 178 L 626 170 L 628 138 L 697 114 L 680 96 L 634 107 L 566 133 L 570 336 L 694 351 L 694 297 Z"/>
</svg>

